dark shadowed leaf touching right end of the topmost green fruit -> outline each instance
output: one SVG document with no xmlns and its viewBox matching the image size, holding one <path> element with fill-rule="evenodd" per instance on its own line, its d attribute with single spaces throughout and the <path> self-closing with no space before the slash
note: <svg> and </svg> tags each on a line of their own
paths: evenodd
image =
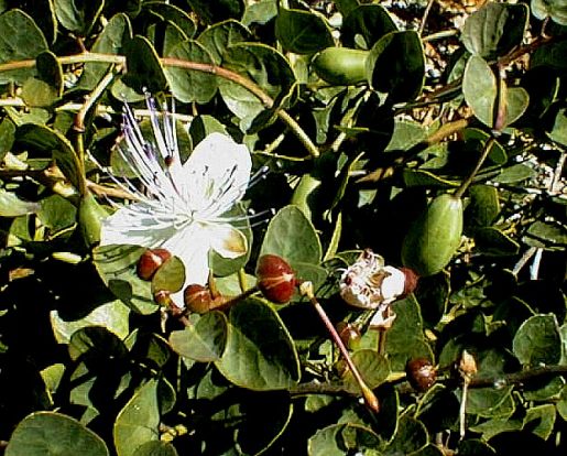
<svg viewBox="0 0 567 456">
<path fill-rule="evenodd" d="M 367 79 L 390 102 L 411 101 L 422 91 L 425 56 L 414 31 L 391 32 L 382 36 L 367 58 Z"/>
</svg>

